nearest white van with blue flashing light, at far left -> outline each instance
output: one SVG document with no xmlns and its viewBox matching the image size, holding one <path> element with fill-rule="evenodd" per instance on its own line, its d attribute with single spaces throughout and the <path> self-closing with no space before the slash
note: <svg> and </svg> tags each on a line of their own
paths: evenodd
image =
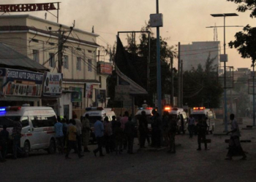
<svg viewBox="0 0 256 182">
<path fill-rule="evenodd" d="M 8 106 L 0 108 L 0 130 L 7 125 L 12 135 L 14 122 L 22 124 L 20 147 L 29 151 L 45 149 L 49 154 L 56 151 L 54 124 L 56 114 L 50 107 Z"/>
</svg>

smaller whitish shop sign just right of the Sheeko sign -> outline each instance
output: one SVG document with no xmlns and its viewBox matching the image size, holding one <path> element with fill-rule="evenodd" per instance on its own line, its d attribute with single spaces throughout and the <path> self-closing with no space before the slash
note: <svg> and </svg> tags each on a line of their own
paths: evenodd
<svg viewBox="0 0 256 182">
<path fill-rule="evenodd" d="M 62 79 L 63 76 L 60 73 L 53 74 L 50 72 L 45 72 L 42 95 L 50 97 L 61 97 Z"/>
</svg>

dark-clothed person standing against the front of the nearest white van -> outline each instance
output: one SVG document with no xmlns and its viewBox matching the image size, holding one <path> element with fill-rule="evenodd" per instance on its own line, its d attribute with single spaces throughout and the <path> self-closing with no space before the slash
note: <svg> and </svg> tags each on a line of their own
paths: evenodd
<svg viewBox="0 0 256 182">
<path fill-rule="evenodd" d="M 21 138 L 22 124 L 20 120 L 14 122 L 14 127 L 12 129 L 12 138 L 13 138 L 13 159 L 17 159 L 17 151 L 23 154 L 22 149 L 20 149 L 20 138 Z"/>
</svg>

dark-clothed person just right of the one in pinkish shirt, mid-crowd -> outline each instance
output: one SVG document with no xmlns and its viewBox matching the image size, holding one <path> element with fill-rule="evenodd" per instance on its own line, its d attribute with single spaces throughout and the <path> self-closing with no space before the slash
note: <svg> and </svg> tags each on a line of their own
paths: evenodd
<svg viewBox="0 0 256 182">
<path fill-rule="evenodd" d="M 132 117 L 129 116 L 128 122 L 125 124 L 124 132 L 127 135 L 128 154 L 133 154 L 133 142 L 135 137 L 135 124 L 132 123 Z"/>
</svg>

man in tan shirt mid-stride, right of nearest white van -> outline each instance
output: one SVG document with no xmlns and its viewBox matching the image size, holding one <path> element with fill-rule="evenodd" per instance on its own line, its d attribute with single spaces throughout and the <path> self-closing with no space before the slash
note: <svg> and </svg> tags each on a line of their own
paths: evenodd
<svg viewBox="0 0 256 182">
<path fill-rule="evenodd" d="M 68 145 L 67 145 L 67 154 L 65 156 L 66 159 L 71 159 L 69 157 L 69 152 L 71 149 L 75 150 L 75 153 L 78 154 L 78 157 L 81 158 L 83 155 L 80 154 L 80 151 L 78 150 L 78 143 L 77 143 L 77 128 L 75 127 L 75 119 L 69 120 L 69 127 L 67 130 L 68 134 Z"/>
</svg>

